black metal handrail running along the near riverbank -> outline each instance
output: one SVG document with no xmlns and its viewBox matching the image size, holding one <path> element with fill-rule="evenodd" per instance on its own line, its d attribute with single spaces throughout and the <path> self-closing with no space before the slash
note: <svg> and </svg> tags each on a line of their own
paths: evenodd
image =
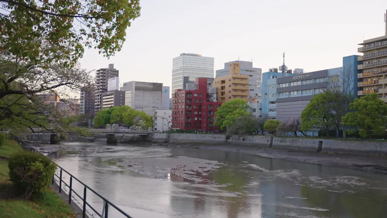
<svg viewBox="0 0 387 218">
<path fill-rule="evenodd" d="M 41 155 L 44 156 L 44 154 L 42 154 L 41 152 L 39 152 L 38 150 L 36 150 L 34 147 L 32 147 L 31 145 L 29 145 L 27 142 L 17 138 L 17 137 L 14 137 L 15 141 L 17 142 L 17 144 L 19 144 L 22 149 L 24 151 L 31 151 L 31 152 L 34 152 L 34 153 L 39 153 Z M 60 167 L 58 164 L 56 164 L 54 161 L 51 160 L 52 163 L 54 163 L 55 165 L 58 166 L 58 168 L 60 169 L 60 175 L 58 176 L 57 174 L 54 173 L 54 175 L 52 176 L 52 182 L 51 184 L 54 184 L 54 177 L 57 176 L 59 178 L 59 193 L 62 192 L 62 183 L 67 186 L 69 188 L 69 191 L 68 191 L 68 204 L 71 204 L 71 194 L 74 192 L 75 195 L 77 195 L 83 202 L 83 208 L 82 209 L 82 218 L 86 218 L 86 205 L 89 206 L 95 213 L 97 213 L 97 215 L 99 217 L 102 217 L 102 215 L 100 213 L 98 213 L 98 211 L 96 209 L 94 209 L 87 201 L 86 201 L 86 192 L 87 192 L 87 189 L 89 189 L 91 192 L 93 192 L 94 194 L 96 194 L 98 197 L 100 197 L 103 202 L 104 202 L 104 218 L 108 218 L 108 206 L 110 204 L 110 206 L 112 206 L 113 208 L 115 208 L 117 211 L 119 211 L 122 215 L 124 215 L 125 217 L 127 218 L 132 218 L 131 216 L 129 216 L 127 213 L 125 213 L 124 211 L 122 211 L 122 209 L 118 208 L 117 206 L 115 206 L 112 202 L 108 201 L 108 199 L 102 197 L 100 194 L 98 194 L 96 191 L 92 190 L 89 186 L 87 186 L 85 183 L 81 182 L 79 179 L 77 179 L 75 176 L 73 176 L 71 173 L 69 173 L 67 170 L 63 169 L 62 167 Z M 70 185 L 68 185 L 65 181 L 62 180 L 62 171 L 65 171 L 68 175 L 70 175 Z M 77 180 L 80 184 L 82 184 L 84 186 L 84 189 L 83 189 L 83 197 L 81 197 L 77 192 L 75 192 L 74 189 L 72 189 L 72 180 L 73 178 L 75 180 Z"/>
</svg>

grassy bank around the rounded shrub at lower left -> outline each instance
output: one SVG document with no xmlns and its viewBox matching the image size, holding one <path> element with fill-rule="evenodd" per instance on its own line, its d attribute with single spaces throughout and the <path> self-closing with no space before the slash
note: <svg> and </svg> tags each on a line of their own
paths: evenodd
<svg viewBox="0 0 387 218">
<path fill-rule="evenodd" d="M 60 197 L 50 190 L 43 200 L 24 201 L 14 196 L 12 183 L 8 177 L 7 157 L 20 151 L 21 147 L 14 140 L 7 140 L 0 147 L 0 215 L 2 218 L 70 218 L 75 213 Z"/>
</svg>

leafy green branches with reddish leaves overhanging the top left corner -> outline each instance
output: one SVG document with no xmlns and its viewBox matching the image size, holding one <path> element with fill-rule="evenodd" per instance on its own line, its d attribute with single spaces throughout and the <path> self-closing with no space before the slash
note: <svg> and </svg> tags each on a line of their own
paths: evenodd
<svg viewBox="0 0 387 218">
<path fill-rule="evenodd" d="M 74 64 L 84 46 L 110 57 L 140 16 L 139 0 L 0 0 L 0 5 L 0 52 L 35 64 Z"/>
</svg>

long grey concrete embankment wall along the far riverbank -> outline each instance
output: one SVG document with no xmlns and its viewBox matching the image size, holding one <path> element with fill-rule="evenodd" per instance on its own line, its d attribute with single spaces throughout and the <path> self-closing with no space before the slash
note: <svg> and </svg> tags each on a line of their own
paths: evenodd
<svg viewBox="0 0 387 218">
<path fill-rule="evenodd" d="M 387 156 L 387 142 L 368 142 L 351 140 L 329 140 L 313 138 L 282 138 L 265 136 L 226 136 L 209 134 L 178 134 L 178 133 L 154 133 L 150 137 L 152 142 L 159 143 L 184 143 L 184 142 L 202 142 L 202 143 L 231 143 L 256 145 L 259 147 L 272 147 L 279 149 L 317 151 L 322 144 L 322 152 L 338 152 L 351 154 L 377 154 Z"/>
</svg>

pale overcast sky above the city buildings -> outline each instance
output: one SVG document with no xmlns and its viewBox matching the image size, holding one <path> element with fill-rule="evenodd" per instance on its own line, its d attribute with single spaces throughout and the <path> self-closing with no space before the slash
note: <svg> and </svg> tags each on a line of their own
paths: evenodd
<svg viewBox="0 0 387 218">
<path fill-rule="evenodd" d="M 363 39 L 385 34 L 385 0 L 140 0 L 141 15 L 127 29 L 120 52 L 107 59 L 85 49 L 82 68 L 114 64 L 120 83 L 146 81 L 171 86 L 172 59 L 181 53 L 224 62 L 253 61 L 253 67 L 342 66 L 342 57 L 360 55 Z M 92 72 L 92 76 L 95 72 Z"/>
</svg>

